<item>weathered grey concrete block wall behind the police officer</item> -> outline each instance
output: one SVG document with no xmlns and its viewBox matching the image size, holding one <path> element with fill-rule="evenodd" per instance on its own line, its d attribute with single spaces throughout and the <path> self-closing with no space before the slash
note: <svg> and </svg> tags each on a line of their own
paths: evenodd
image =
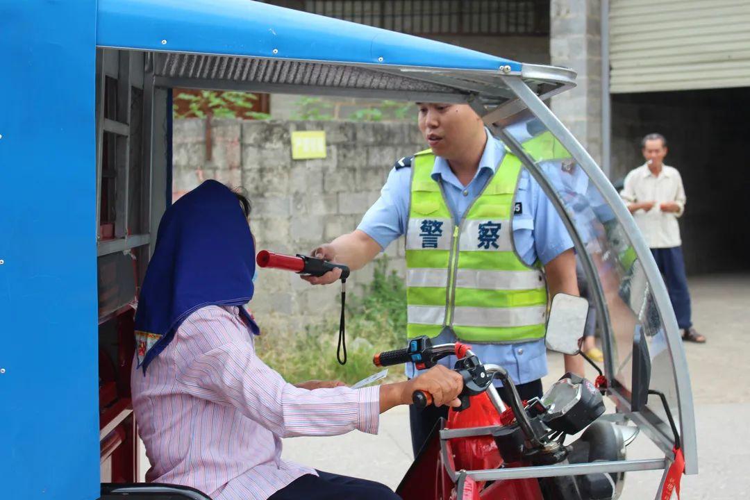
<svg viewBox="0 0 750 500">
<path fill-rule="evenodd" d="M 380 196 L 395 160 L 425 148 L 419 129 L 410 123 L 214 120 L 207 158 L 205 127 L 198 118 L 174 122 L 173 196 L 209 178 L 242 187 L 253 205 L 258 249 L 280 253 L 308 253 L 356 229 Z M 292 160 L 292 130 L 325 130 L 326 158 Z M 385 258 L 389 269 L 404 275 L 403 240 L 392 243 Z M 353 273 L 347 286 L 358 292 L 372 274 L 368 265 Z M 330 316 L 339 291 L 338 286 L 310 286 L 287 271 L 263 269 L 251 306 L 302 325 Z"/>
</svg>

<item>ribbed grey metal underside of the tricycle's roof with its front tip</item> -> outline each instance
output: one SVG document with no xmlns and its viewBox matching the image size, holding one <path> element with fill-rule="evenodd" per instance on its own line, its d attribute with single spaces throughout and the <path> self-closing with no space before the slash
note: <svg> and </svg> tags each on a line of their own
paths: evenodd
<svg viewBox="0 0 750 500">
<path fill-rule="evenodd" d="M 523 64 L 520 71 L 510 66 L 499 70 L 463 70 L 188 52 L 149 53 L 154 60 L 154 84 L 160 87 L 405 101 L 478 101 L 484 106 L 496 106 L 494 121 L 524 107 L 523 101 L 505 86 L 505 76 L 520 76 L 542 99 L 572 88 L 576 76 L 567 68 L 538 64 Z"/>
</svg>

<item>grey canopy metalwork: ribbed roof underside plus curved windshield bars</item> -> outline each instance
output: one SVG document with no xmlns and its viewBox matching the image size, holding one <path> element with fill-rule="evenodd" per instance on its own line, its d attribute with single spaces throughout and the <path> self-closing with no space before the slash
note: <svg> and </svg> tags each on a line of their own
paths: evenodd
<svg viewBox="0 0 750 500">
<path fill-rule="evenodd" d="M 230 89 L 239 91 L 266 91 L 292 94 L 344 95 L 355 97 L 381 97 L 395 100 L 425 100 L 433 102 L 469 103 L 516 154 L 553 200 L 576 247 L 583 242 L 574 228 L 571 214 L 565 211 L 562 200 L 550 181 L 538 169 L 520 144 L 502 128 L 493 124 L 528 109 L 571 151 L 574 159 L 589 175 L 613 209 L 617 220 L 628 232 L 639 259 L 645 263 L 646 277 L 651 283 L 658 307 L 671 311 L 666 289 L 658 280 L 658 271 L 646 244 L 634 226 L 619 195 L 601 173 L 583 146 L 557 120 L 543 100 L 574 86 L 575 73 L 559 67 L 523 64 L 516 70 L 466 70 L 436 67 L 395 66 L 383 64 L 350 63 L 341 61 L 296 61 L 284 58 L 257 58 L 240 55 L 191 54 L 185 52 L 146 52 L 145 60 L 151 62 L 152 85 L 159 91 L 174 87 Z M 583 268 L 592 285 L 598 320 L 611 331 L 604 292 L 587 253 L 582 253 Z M 694 448 L 694 416 L 684 354 L 680 350 L 679 336 L 673 315 L 667 321 L 667 340 L 673 358 L 674 378 L 679 394 L 681 439 L 685 450 L 685 472 L 697 472 L 697 453 Z M 604 335 L 604 367 L 607 379 L 613 379 L 613 358 L 610 335 Z M 675 349 L 675 346 L 680 346 Z M 635 421 L 662 451 L 672 457 L 671 440 L 666 424 L 660 425 L 655 415 L 646 418 L 631 413 L 629 400 L 616 387 L 610 395 L 620 412 Z M 653 463 L 651 464 L 654 465 Z M 587 469 L 577 469 L 587 470 Z M 588 472 L 586 472 L 588 473 Z"/>
</svg>

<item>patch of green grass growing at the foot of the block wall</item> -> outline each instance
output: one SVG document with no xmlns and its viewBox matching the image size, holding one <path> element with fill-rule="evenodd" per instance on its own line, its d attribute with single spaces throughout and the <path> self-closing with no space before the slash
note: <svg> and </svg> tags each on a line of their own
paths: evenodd
<svg viewBox="0 0 750 500">
<path fill-rule="evenodd" d="M 305 335 L 281 325 L 265 325 L 269 334 L 257 339 L 260 358 L 288 382 L 341 380 L 353 384 L 380 371 L 372 363 L 376 352 L 400 349 L 407 343 L 407 292 L 385 259 L 374 265 L 374 278 L 361 297 L 347 294 L 347 364 L 336 361 L 338 313 L 335 319 L 308 325 Z M 264 322 L 265 323 L 265 322 Z M 403 379 L 401 367 L 391 367 L 389 379 Z"/>
</svg>

